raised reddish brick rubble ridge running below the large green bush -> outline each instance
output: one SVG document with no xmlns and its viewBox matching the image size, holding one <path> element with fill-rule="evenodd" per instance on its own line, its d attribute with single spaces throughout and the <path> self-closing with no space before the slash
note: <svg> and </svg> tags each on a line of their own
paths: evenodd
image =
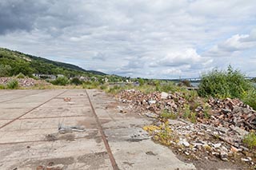
<svg viewBox="0 0 256 170">
<path fill-rule="evenodd" d="M 197 121 L 215 127 L 234 128 L 238 127 L 250 131 L 256 130 L 256 112 L 238 99 L 226 98 L 218 100 L 210 98 L 206 103 L 198 103 L 193 109 L 194 101 L 187 101 L 182 93 L 159 93 L 144 94 L 138 90 L 123 90 L 119 94 L 119 100 L 130 105 L 138 113 L 148 111 L 160 115 L 163 109 L 170 113 L 181 116 L 186 105 L 190 106 L 191 112 L 196 113 Z M 191 104 L 192 103 L 192 104 Z M 206 108 L 209 107 L 209 110 Z M 208 117 L 205 116 L 207 112 Z M 155 116 L 154 116 L 155 117 Z"/>
</svg>

